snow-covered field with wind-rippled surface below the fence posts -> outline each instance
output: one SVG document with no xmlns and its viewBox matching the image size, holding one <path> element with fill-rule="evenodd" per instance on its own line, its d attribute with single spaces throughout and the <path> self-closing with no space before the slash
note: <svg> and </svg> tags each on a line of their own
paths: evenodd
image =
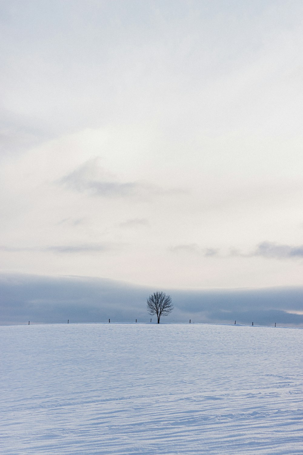
<svg viewBox="0 0 303 455">
<path fill-rule="evenodd" d="M 303 331 L 0 327 L 1 454 L 302 454 Z"/>
</svg>

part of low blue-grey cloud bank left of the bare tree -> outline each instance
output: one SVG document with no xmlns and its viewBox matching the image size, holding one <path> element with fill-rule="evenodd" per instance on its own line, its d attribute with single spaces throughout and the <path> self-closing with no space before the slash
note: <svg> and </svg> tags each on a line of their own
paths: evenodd
<svg viewBox="0 0 303 455">
<path fill-rule="evenodd" d="M 149 318 L 145 309 L 147 289 L 118 281 L 5 274 L 0 275 L 0 289 L 0 324 Z"/>
</svg>

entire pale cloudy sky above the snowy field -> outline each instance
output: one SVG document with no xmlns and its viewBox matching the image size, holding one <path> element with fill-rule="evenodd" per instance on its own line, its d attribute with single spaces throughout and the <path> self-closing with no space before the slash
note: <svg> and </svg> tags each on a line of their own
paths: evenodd
<svg viewBox="0 0 303 455">
<path fill-rule="evenodd" d="M 243 292 L 243 321 L 262 293 L 303 323 L 302 22 L 296 0 L 2 0 L 0 319 L 63 280 L 72 307 L 119 288 L 124 320 L 165 289 L 181 319 Z"/>
</svg>

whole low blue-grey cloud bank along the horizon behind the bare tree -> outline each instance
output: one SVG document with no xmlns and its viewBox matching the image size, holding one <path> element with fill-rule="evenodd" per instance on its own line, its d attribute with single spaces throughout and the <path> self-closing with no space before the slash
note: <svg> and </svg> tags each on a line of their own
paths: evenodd
<svg viewBox="0 0 303 455">
<path fill-rule="evenodd" d="M 33 275 L 0 276 L 0 324 L 32 322 L 148 322 L 146 298 L 156 289 L 122 282 Z M 269 289 L 166 289 L 174 312 L 163 322 L 302 325 L 303 287 Z"/>
</svg>

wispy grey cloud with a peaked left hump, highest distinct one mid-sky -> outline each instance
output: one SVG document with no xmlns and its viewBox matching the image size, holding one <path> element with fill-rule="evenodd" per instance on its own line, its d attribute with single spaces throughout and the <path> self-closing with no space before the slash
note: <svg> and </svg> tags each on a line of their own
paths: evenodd
<svg viewBox="0 0 303 455">
<path fill-rule="evenodd" d="M 184 192 L 180 188 L 164 189 L 147 182 L 119 182 L 99 166 L 99 157 L 84 162 L 82 166 L 60 178 L 56 183 L 80 193 L 86 192 L 91 196 L 113 198 L 143 197 L 145 199 L 151 195 Z"/>
</svg>

